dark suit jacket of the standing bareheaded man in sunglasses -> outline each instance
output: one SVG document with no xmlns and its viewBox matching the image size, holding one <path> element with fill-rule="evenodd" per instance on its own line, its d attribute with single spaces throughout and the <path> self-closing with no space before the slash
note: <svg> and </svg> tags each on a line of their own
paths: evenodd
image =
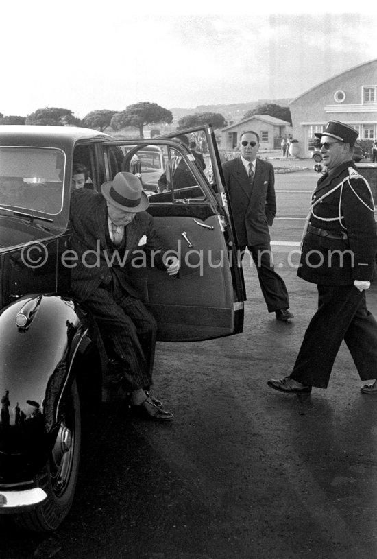
<svg viewBox="0 0 377 559">
<path fill-rule="evenodd" d="M 250 187 L 241 157 L 223 164 L 236 235 L 241 246 L 269 243 L 269 227 L 276 214 L 275 177 L 271 163 L 256 159 Z"/>
</svg>

